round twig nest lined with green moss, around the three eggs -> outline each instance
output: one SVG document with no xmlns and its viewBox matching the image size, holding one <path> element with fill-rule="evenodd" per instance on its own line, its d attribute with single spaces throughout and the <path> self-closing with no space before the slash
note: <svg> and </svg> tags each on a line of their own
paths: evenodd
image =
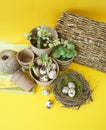
<svg viewBox="0 0 106 130">
<path fill-rule="evenodd" d="M 67 86 L 68 82 L 74 82 L 76 85 L 76 95 L 70 98 L 67 94 L 62 93 L 62 88 Z M 86 104 L 86 101 L 92 101 L 91 90 L 88 82 L 81 74 L 76 71 L 68 70 L 55 80 L 53 84 L 53 93 L 56 99 L 64 105 L 64 107 L 79 108 Z"/>
</svg>

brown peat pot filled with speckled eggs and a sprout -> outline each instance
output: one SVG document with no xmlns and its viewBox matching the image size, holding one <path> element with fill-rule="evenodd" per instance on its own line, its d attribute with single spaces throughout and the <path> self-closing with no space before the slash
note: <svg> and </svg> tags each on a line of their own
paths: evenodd
<svg viewBox="0 0 106 130">
<path fill-rule="evenodd" d="M 38 60 L 38 59 L 39 59 L 39 57 L 37 57 L 37 58 L 35 59 L 35 61 Z M 54 62 L 54 63 L 56 64 L 56 66 L 57 66 L 57 75 L 56 75 L 56 77 L 55 77 L 53 80 L 50 80 L 50 81 L 47 81 L 47 82 L 39 81 L 38 79 L 36 79 L 36 78 L 34 77 L 34 75 L 33 75 L 33 70 L 32 70 L 31 68 L 29 69 L 31 77 L 35 80 L 35 82 L 36 82 L 39 86 L 43 86 L 43 87 L 50 86 L 50 85 L 52 84 L 52 82 L 57 78 L 57 76 L 58 76 L 58 74 L 59 74 L 59 66 L 58 66 L 57 62 L 56 62 L 53 58 L 52 58 L 52 60 L 53 60 L 53 62 Z"/>
</svg>

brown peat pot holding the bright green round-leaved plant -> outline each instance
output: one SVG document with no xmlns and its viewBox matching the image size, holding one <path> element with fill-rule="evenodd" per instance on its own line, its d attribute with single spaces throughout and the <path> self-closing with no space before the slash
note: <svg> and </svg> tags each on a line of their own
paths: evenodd
<svg viewBox="0 0 106 130">
<path fill-rule="evenodd" d="M 59 65 L 59 70 L 66 70 L 70 63 L 73 62 L 73 58 L 69 59 L 69 60 L 66 60 L 66 61 L 61 61 L 59 59 L 55 59 Z"/>
</svg>

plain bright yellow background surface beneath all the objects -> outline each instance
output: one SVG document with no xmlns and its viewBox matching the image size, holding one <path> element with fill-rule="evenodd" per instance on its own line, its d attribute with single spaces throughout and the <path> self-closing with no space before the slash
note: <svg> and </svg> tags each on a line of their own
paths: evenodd
<svg viewBox="0 0 106 130">
<path fill-rule="evenodd" d="M 106 22 L 105 0 L 0 0 L 0 40 L 28 43 L 23 34 L 34 26 L 55 26 L 60 14 L 70 10 Z M 80 110 L 62 108 L 54 96 L 0 93 L 0 130 L 106 130 L 106 74 L 73 63 L 70 68 L 89 81 L 94 102 Z M 48 99 L 54 101 L 50 110 Z"/>
</svg>

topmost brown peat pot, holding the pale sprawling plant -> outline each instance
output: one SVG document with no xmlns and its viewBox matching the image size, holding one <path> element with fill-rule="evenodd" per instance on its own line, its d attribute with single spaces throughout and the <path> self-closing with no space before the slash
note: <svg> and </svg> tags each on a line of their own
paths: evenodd
<svg viewBox="0 0 106 130">
<path fill-rule="evenodd" d="M 46 26 L 46 28 L 51 32 L 54 40 L 58 38 L 58 34 L 57 34 L 55 29 L 52 29 L 51 27 L 48 27 L 48 26 Z M 31 30 L 31 33 L 32 33 L 32 35 L 36 36 L 37 35 L 37 28 L 34 28 L 33 30 Z M 33 45 L 33 40 L 30 40 L 30 43 L 31 43 L 32 51 L 38 56 L 40 56 L 43 53 L 49 55 L 54 48 L 54 47 L 50 47 L 50 48 L 46 48 L 46 49 L 37 48 L 36 46 Z"/>
</svg>

